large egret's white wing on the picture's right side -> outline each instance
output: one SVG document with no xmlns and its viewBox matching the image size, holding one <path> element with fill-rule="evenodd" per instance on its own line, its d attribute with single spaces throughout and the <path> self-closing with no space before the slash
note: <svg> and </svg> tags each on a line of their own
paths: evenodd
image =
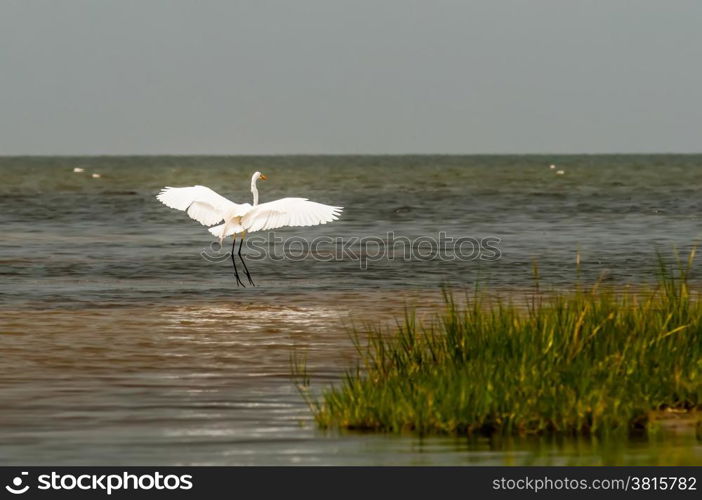
<svg viewBox="0 0 702 500">
<path fill-rule="evenodd" d="M 306 198 L 281 198 L 252 207 L 241 218 L 241 225 L 250 233 L 283 226 L 316 226 L 337 220 L 342 209 Z"/>
</svg>

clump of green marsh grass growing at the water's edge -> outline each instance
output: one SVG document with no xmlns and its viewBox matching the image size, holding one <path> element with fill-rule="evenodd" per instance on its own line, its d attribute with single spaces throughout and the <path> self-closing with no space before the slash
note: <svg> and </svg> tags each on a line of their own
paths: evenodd
<svg viewBox="0 0 702 500">
<path fill-rule="evenodd" d="M 449 291 L 435 317 L 408 310 L 393 330 L 353 334 L 358 364 L 312 395 L 322 428 L 421 434 L 589 435 L 643 431 L 702 396 L 702 300 L 694 251 L 656 286 L 536 291 L 526 303 Z M 538 285 L 537 285 L 538 287 Z"/>
</svg>

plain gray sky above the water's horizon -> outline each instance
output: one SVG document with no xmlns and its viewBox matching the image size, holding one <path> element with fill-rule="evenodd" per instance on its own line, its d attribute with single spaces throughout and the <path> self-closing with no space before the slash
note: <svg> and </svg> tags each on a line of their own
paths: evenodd
<svg viewBox="0 0 702 500">
<path fill-rule="evenodd" d="M 699 151 L 699 0 L 0 0 L 0 154 Z"/>
</svg>

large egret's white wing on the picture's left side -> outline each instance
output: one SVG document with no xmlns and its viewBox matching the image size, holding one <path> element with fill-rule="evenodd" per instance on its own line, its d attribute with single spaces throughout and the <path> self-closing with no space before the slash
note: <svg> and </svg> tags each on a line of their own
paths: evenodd
<svg viewBox="0 0 702 500">
<path fill-rule="evenodd" d="M 251 207 L 248 203 L 234 203 L 205 186 L 165 187 L 156 198 L 167 207 L 187 211 L 203 226 L 217 224 L 225 217 L 243 215 Z"/>
</svg>

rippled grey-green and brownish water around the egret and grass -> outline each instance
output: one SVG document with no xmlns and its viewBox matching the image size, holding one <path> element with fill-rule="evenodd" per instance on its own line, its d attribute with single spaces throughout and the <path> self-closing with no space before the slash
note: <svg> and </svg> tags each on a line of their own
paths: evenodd
<svg viewBox="0 0 702 500">
<path fill-rule="evenodd" d="M 213 251 L 209 233 L 154 196 L 204 184 L 250 202 L 255 170 L 270 179 L 262 202 L 345 207 L 281 238 L 443 232 L 499 238 L 501 256 L 365 269 L 353 256 L 250 259 L 259 286 L 238 289 L 228 260 L 200 255 Z M 333 383 L 353 360 L 349 319 L 390 320 L 445 283 L 518 293 L 537 260 L 542 283 L 567 287 L 576 252 L 585 280 L 651 281 L 657 249 L 686 251 L 702 235 L 700 155 L 0 158 L 0 181 L 2 464 L 702 460 L 689 429 L 606 446 L 323 433 L 290 380 L 294 350 L 318 385 Z"/>
</svg>

